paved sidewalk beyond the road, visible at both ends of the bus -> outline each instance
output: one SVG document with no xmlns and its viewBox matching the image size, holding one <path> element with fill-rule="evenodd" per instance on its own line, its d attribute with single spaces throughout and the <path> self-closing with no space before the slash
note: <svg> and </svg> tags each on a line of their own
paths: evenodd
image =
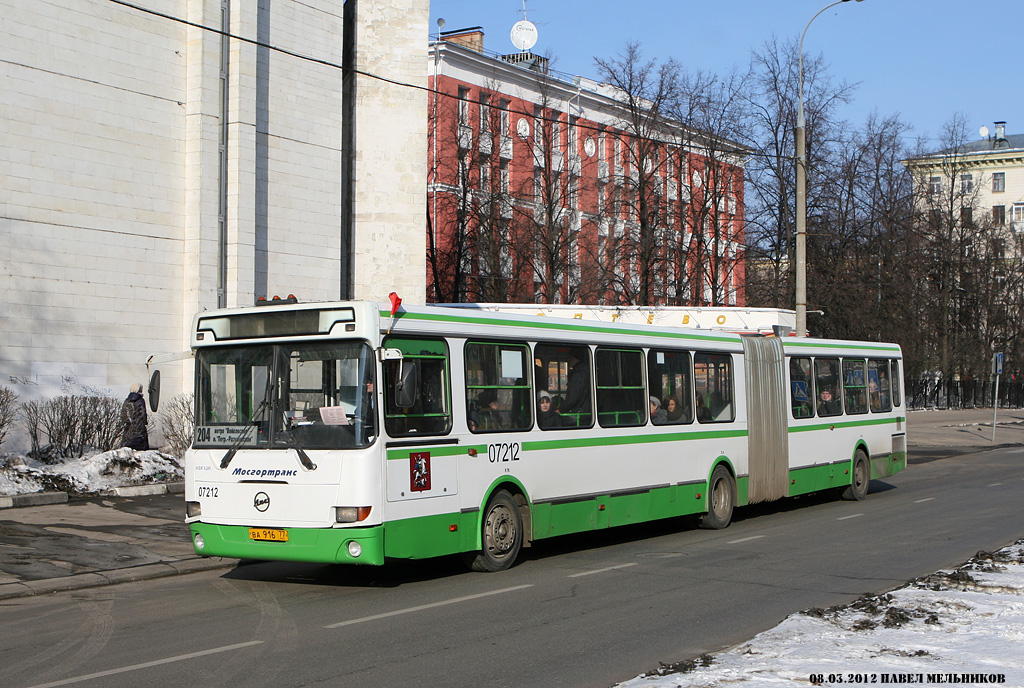
<svg viewBox="0 0 1024 688">
<path fill-rule="evenodd" d="M 1024 410 L 919 411 L 907 418 L 910 464 L 1024 444 Z M 913 470 L 912 467 L 909 470 Z M 0 600 L 231 568 L 193 551 L 181 483 L 68 501 L 63 492 L 0 498 Z M 31 504 L 36 506 L 20 506 Z"/>
</svg>

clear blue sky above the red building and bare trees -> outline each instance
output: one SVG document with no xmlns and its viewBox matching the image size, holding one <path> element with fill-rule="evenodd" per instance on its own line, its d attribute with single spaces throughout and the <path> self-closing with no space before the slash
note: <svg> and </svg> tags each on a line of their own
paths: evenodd
<svg viewBox="0 0 1024 688">
<path fill-rule="evenodd" d="M 773 34 L 799 40 L 829 0 L 527 0 L 537 25 L 534 51 L 551 52 L 561 72 L 597 76 L 595 56 L 613 56 L 630 41 L 650 57 L 674 57 L 718 74 L 745 66 Z M 430 32 L 479 26 L 484 47 L 515 52 L 512 25 L 522 0 L 431 0 Z M 872 111 L 899 115 L 912 134 L 937 140 L 954 113 L 968 131 L 1007 122 L 1024 133 L 1024 1 L 863 0 L 814 19 L 804 52 L 820 54 L 837 81 L 859 84 L 841 117 L 862 126 Z M 973 136 L 980 138 L 980 136 Z"/>
</svg>

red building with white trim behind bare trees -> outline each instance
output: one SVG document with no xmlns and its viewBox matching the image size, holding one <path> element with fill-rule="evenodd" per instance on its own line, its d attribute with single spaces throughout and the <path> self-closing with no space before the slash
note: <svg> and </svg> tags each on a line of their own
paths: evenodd
<svg viewBox="0 0 1024 688">
<path fill-rule="evenodd" d="M 741 146 L 479 29 L 441 39 L 428 301 L 744 305 Z"/>
</svg>

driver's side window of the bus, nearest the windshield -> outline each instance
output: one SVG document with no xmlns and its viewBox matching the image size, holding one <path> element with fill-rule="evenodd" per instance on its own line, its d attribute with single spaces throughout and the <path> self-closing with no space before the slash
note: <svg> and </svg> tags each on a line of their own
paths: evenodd
<svg viewBox="0 0 1024 688">
<path fill-rule="evenodd" d="M 387 433 L 392 437 L 447 434 L 452 430 L 447 345 L 440 340 L 400 337 L 389 337 L 383 345 L 402 352 L 401 360 L 384 363 Z M 415 369 L 416 374 L 411 376 L 407 369 Z M 416 388 L 398 394 L 402 378 Z"/>
</svg>

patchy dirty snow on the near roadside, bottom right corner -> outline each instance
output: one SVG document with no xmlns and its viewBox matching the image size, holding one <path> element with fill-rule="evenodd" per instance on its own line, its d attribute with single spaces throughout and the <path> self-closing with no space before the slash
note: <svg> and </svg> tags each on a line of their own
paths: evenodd
<svg viewBox="0 0 1024 688">
<path fill-rule="evenodd" d="M 617 688 L 1024 686 L 1024 540 L 884 595 L 794 614 L 717 655 Z"/>
</svg>

